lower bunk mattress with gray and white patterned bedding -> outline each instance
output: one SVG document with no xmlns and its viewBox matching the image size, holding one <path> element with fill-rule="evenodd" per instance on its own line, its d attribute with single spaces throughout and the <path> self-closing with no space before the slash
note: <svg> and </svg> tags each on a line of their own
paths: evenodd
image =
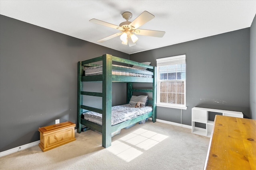
<svg viewBox="0 0 256 170">
<path fill-rule="evenodd" d="M 134 106 L 132 106 L 130 104 L 113 106 L 112 107 L 111 125 L 116 125 L 118 123 L 132 119 L 139 115 L 143 115 L 150 111 L 153 111 L 152 106 L 145 106 L 145 107 L 140 107 L 140 108 L 135 108 Z M 94 112 L 94 111 L 88 111 L 86 113 L 83 113 L 83 115 L 84 115 L 84 119 L 86 119 L 90 122 L 102 125 L 102 114 Z"/>
</svg>

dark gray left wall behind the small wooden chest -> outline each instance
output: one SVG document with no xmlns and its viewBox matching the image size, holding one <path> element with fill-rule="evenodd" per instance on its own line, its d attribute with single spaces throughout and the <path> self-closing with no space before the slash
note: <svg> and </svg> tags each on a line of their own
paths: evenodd
<svg viewBox="0 0 256 170">
<path fill-rule="evenodd" d="M 105 53 L 129 59 L 128 54 L 2 15 L 0 37 L 0 152 L 38 141 L 38 127 L 55 119 L 76 123 L 78 61 Z M 113 88 L 113 104 L 125 103 L 118 90 L 126 84 Z"/>
</svg>

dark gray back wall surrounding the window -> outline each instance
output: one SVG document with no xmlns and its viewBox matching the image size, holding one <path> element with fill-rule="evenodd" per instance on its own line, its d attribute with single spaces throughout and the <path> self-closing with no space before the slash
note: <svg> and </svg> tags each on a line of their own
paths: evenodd
<svg viewBox="0 0 256 170">
<path fill-rule="evenodd" d="M 188 108 L 157 107 L 157 119 L 191 125 L 192 107 L 242 111 L 250 117 L 250 28 L 132 54 L 130 59 L 156 66 L 156 59 L 183 54 Z"/>
</svg>

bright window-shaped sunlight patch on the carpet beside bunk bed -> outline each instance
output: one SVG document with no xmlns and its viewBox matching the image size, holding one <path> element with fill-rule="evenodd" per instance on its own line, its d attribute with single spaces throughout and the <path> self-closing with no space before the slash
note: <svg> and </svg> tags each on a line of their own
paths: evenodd
<svg viewBox="0 0 256 170">
<path fill-rule="evenodd" d="M 166 138 L 168 136 L 140 128 L 112 142 L 107 149 L 122 160 L 130 162 L 140 156 L 143 150 L 154 147 Z"/>
</svg>

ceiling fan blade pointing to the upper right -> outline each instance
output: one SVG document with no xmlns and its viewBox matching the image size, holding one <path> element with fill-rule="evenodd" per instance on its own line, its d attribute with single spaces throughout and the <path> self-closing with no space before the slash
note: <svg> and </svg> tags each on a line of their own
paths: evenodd
<svg viewBox="0 0 256 170">
<path fill-rule="evenodd" d="M 150 14 L 147 11 L 142 12 L 135 20 L 133 20 L 129 26 L 134 27 L 134 29 L 140 27 L 141 25 L 143 25 L 144 23 L 152 20 L 153 18 L 155 18 L 155 16 L 153 16 L 152 14 Z"/>
</svg>

